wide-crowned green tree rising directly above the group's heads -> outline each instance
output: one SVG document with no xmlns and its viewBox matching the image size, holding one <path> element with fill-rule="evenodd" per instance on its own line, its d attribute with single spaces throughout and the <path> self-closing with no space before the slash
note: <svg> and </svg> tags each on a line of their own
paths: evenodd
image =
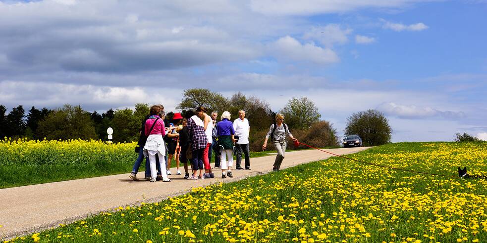
<svg viewBox="0 0 487 243">
<path fill-rule="evenodd" d="M 206 88 L 190 88 L 183 92 L 183 100 L 176 109 L 195 110 L 203 106 L 208 108 L 208 112 L 218 111 L 221 113 L 227 108 L 227 100 L 218 92 L 213 92 Z"/>
</svg>

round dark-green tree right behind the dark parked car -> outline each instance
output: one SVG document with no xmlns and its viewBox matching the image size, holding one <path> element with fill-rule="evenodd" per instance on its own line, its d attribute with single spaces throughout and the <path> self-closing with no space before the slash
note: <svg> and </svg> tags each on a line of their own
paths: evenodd
<svg viewBox="0 0 487 243">
<path fill-rule="evenodd" d="M 365 146 L 390 143 L 391 133 L 389 121 L 377 110 L 354 113 L 347 118 L 345 135 L 359 135 Z"/>
</svg>

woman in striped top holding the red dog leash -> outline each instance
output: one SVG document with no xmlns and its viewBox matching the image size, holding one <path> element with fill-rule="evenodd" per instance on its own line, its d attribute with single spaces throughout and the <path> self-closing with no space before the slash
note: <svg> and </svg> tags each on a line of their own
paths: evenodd
<svg viewBox="0 0 487 243">
<path fill-rule="evenodd" d="M 287 147 L 286 134 L 293 141 L 296 140 L 289 132 L 286 123 L 284 123 L 284 115 L 278 113 L 277 115 L 275 115 L 275 122 L 271 124 L 271 127 L 267 132 L 264 145 L 262 145 L 262 149 L 266 150 L 267 140 L 271 138 L 274 143 L 275 149 L 277 150 L 277 156 L 275 157 L 274 166 L 272 167 L 273 171 L 278 171 L 281 167 L 282 161 L 284 160 L 284 154 L 286 153 Z"/>
</svg>

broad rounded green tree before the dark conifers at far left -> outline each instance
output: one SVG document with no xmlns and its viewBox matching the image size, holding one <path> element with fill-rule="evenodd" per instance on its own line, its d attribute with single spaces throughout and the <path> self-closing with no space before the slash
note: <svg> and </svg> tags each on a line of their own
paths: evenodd
<svg viewBox="0 0 487 243">
<path fill-rule="evenodd" d="M 53 139 L 97 139 L 90 113 L 81 106 L 64 105 L 39 122 L 36 136 Z"/>
</svg>

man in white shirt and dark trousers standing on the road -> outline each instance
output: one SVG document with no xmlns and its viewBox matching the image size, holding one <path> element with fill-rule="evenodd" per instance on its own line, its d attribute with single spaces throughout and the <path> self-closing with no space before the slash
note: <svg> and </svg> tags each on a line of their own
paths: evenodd
<svg viewBox="0 0 487 243">
<path fill-rule="evenodd" d="M 250 125 L 249 120 L 245 118 L 245 111 L 238 111 L 238 118 L 233 121 L 233 129 L 235 136 L 238 136 L 238 141 L 235 144 L 237 149 L 237 163 L 236 169 L 243 169 L 240 166 L 242 162 L 242 152 L 245 155 L 245 169 L 250 169 L 250 152 L 249 152 L 249 134 Z"/>
</svg>

